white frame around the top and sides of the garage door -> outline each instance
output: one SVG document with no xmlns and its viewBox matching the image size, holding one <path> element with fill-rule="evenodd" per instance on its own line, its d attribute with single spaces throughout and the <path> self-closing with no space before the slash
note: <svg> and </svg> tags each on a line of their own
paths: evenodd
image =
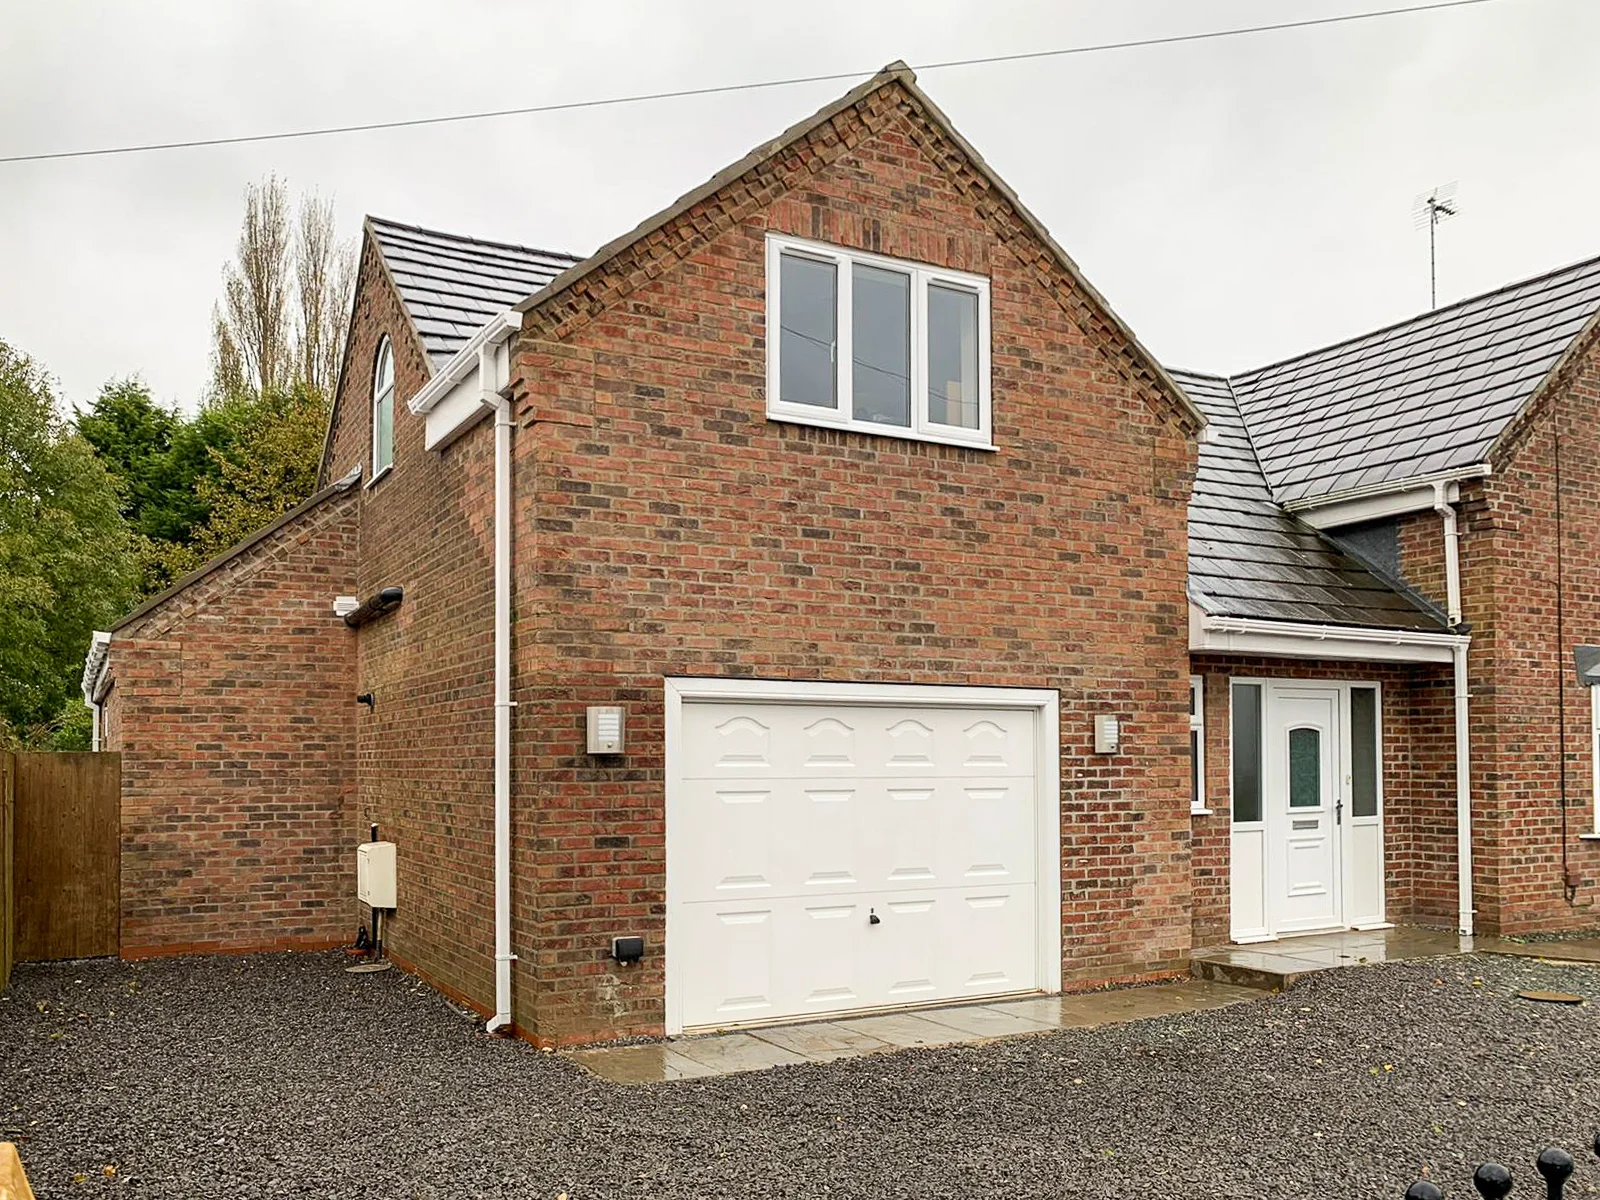
<svg viewBox="0 0 1600 1200">
<path fill-rule="evenodd" d="M 664 677 L 666 699 L 666 856 L 667 856 L 667 946 L 666 946 L 666 1030 L 683 1032 L 682 960 L 672 947 L 678 941 L 677 898 L 682 883 L 674 867 L 675 819 L 683 805 L 683 784 L 677 765 L 683 762 L 683 706 L 706 701 L 734 704 L 851 704 L 920 706 L 941 709 L 1019 709 L 1035 714 L 1034 754 L 1034 870 L 1037 904 L 1037 970 L 1042 992 L 1061 990 L 1061 696 L 1045 688 L 962 688 L 922 683 L 821 683 L 813 680 Z"/>
</svg>

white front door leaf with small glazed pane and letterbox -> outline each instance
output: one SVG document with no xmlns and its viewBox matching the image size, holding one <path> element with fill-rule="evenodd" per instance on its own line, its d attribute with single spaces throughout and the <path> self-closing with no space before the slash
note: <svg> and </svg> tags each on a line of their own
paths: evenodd
<svg viewBox="0 0 1600 1200">
<path fill-rule="evenodd" d="M 1277 933 L 1339 923 L 1339 691 L 1277 688 L 1269 709 L 1266 802 Z"/>
</svg>

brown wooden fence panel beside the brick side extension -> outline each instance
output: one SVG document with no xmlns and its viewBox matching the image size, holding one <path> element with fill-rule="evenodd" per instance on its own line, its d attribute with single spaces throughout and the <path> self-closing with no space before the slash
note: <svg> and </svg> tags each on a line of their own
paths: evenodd
<svg viewBox="0 0 1600 1200">
<path fill-rule="evenodd" d="M 14 757 L 16 960 L 117 954 L 122 757 Z"/>
</svg>

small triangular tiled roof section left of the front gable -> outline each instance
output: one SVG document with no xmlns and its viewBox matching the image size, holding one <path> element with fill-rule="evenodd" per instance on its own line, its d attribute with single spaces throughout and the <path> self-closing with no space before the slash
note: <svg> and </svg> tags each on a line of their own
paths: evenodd
<svg viewBox="0 0 1600 1200">
<path fill-rule="evenodd" d="M 483 242 L 366 218 L 384 266 L 437 370 L 483 323 L 579 261 L 578 254 Z"/>
</svg>

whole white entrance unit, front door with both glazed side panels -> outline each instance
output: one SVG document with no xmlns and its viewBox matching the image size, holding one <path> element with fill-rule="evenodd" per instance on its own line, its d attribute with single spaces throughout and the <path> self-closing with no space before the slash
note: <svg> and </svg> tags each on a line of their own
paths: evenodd
<svg viewBox="0 0 1600 1200">
<path fill-rule="evenodd" d="M 1378 686 L 1235 678 L 1230 699 L 1234 939 L 1382 925 Z"/>
</svg>

